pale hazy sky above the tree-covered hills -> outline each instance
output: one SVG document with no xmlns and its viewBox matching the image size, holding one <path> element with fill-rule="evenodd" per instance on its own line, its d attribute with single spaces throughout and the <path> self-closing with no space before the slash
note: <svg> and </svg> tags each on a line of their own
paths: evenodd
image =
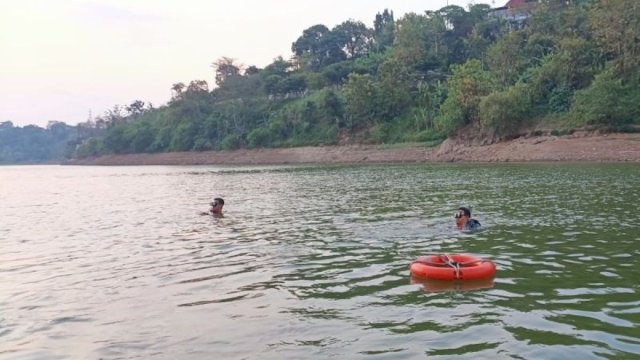
<svg viewBox="0 0 640 360">
<path fill-rule="evenodd" d="M 504 1 L 475 4 L 501 6 Z M 0 0 L 0 122 L 45 127 L 103 115 L 135 100 L 155 107 L 178 82 L 214 84 L 226 56 L 259 68 L 289 59 L 291 43 L 316 24 L 348 19 L 373 27 L 468 8 L 469 0 Z"/>
</svg>

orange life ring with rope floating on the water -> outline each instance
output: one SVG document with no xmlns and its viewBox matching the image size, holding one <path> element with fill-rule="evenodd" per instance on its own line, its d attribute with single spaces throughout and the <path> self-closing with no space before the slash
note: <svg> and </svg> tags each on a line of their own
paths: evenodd
<svg viewBox="0 0 640 360">
<path fill-rule="evenodd" d="M 434 280 L 479 280 L 495 275 L 496 265 L 478 256 L 420 256 L 411 264 L 411 275 Z"/>
</svg>

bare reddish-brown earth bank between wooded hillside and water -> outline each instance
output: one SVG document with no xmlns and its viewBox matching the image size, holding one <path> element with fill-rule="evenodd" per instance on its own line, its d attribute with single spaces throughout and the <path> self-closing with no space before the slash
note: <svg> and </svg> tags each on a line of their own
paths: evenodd
<svg viewBox="0 0 640 360">
<path fill-rule="evenodd" d="M 251 165 L 424 162 L 640 162 L 640 134 L 522 137 L 493 144 L 448 139 L 427 148 L 347 145 L 106 155 L 67 165 Z"/>
</svg>

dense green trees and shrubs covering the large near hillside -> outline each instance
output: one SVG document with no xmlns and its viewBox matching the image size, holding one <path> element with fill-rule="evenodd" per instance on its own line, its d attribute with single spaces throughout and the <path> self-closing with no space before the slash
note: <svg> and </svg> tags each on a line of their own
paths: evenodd
<svg viewBox="0 0 640 360">
<path fill-rule="evenodd" d="M 218 59 L 213 90 L 115 106 L 78 126 L 74 156 L 635 131 L 638 39 L 637 0 L 384 10 L 373 28 L 313 25 L 262 69 Z"/>
</svg>

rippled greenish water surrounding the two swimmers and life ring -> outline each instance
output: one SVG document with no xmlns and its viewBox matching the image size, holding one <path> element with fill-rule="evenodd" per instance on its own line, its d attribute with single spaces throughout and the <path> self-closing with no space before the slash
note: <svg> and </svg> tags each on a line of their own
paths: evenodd
<svg viewBox="0 0 640 360">
<path fill-rule="evenodd" d="M 2 359 L 640 357 L 640 166 L 0 167 Z M 201 216 L 214 196 L 222 218 Z M 484 229 L 454 229 L 458 206 Z M 494 280 L 412 280 L 427 254 Z"/>
</svg>

